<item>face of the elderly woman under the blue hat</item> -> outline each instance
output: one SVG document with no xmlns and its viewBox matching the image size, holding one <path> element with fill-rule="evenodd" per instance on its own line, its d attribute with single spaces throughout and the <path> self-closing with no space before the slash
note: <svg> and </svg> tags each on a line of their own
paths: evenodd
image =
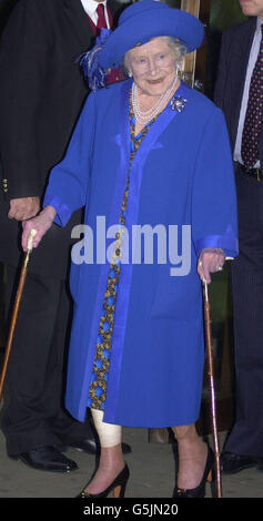
<svg viewBox="0 0 263 521">
<path fill-rule="evenodd" d="M 176 72 L 174 53 L 162 38 L 131 49 L 128 63 L 139 90 L 148 95 L 162 95 Z"/>
</svg>

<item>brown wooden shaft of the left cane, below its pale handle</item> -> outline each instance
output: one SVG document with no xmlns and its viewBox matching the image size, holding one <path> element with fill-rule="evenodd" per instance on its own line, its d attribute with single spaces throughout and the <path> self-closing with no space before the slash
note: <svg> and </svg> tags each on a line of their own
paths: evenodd
<svg viewBox="0 0 263 521">
<path fill-rule="evenodd" d="M 27 259 L 27 257 L 26 257 L 26 259 Z M 22 293 L 23 293 L 26 276 L 27 276 L 27 268 L 26 268 L 26 262 L 24 262 L 24 265 L 21 269 L 19 285 L 18 285 L 17 295 L 16 295 L 16 299 L 14 299 L 13 311 L 12 311 L 12 317 L 11 317 L 11 324 L 10 324 L 6 351 L 4 351 L 3 365 L 2 365 L 2 370 L 1 370 L 1 375 L 0 375 L 0 401 L 2 399 L 3 385 L 4 385 L 4 380 L 6 380 L 6 375 L 7 375 L 7 369 L 8 369 L 8 362 L 9 362 L 10 353 L 11 353 L 13 335 L 14 335 L 14 330 L 16 330 L 16 326 L 17 326 L 18 311 L 19 311 L 19 307 L 20 307 Z"/>
</svg>

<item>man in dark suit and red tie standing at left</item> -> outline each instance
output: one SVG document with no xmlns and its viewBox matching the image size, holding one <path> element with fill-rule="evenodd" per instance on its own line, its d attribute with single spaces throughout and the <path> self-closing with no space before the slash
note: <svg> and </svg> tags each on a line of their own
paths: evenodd
<svg viewBox="0 0 263 521">
<path fill-rule="evenodd" d="M 112 28 L 120 7 L 114 0 L 19 0 L 3 31 L 0 260 L 7 266 L 7 304 L 17 287 L 21 221 L 39 212 L 49 172 L 61 161 L 88 94 L 77 59 L 101 27 Z M 78 423 L 63 409 L 67 278 L 71 231 L 80 222 L 75 213 L 64 229 L 53 226 L 31 256 L 1 420 L 9 456 L 61 472 L 77 468 L 62 447 L 98 449 L 90 422 Z"/>
</svg>

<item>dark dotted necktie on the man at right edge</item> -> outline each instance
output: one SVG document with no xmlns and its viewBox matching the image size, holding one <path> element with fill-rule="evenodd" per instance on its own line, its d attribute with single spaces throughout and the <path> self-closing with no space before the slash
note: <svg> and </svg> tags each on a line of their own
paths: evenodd
<svg viewBox="0 0 263 521">
<path fill-rule="evenodd" d="M 250 93 L 242 134 L 241 156 L 246 168 L 259 160 L 259 137 L 263 121 L 263 25 L 259 57 L 251 76 Z"/>
</svg>

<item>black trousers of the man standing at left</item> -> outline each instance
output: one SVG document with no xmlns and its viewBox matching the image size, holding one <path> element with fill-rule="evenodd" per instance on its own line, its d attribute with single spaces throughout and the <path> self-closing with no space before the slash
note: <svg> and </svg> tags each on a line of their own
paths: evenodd
<svg viewBox="0 0 263 521">
<path fill-rule="evenodd" d="M 10 309 L 16 288 L 16 269 L 8 266 Z M 63 408 L 71 313 L 72 303 L 64 282 L 28 273 L 1 421 L 10 456 L 40 446 L 93 437 L 89 422 L 73 420 Z"/>
</svg>

